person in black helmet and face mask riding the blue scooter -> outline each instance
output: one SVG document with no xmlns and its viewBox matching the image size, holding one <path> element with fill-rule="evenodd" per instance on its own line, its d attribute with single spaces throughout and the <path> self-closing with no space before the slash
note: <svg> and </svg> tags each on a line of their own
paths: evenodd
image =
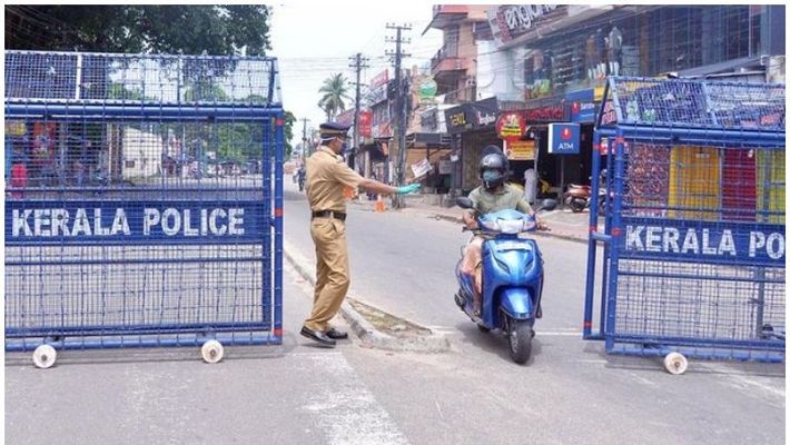
<svg viewBox="0 0 790 445">
<path fill-rule="evenodd" d="M 495 211 L 514 209 L 522 214 L 531 215 L 535 218 L 539 229 L 545 226 L 537 220 L 537 216 L 524 199 L 524 195 L 507 184 L 505 180 L 510 176 L 510 162 L 507 157 L 496 146 L 487 146 L 483 149 L 483 157 L 480 160 L 480 179 L 482 186 L 470 192 L 468 198 L 474 204 L 474 210 L 464 214 L 463 219 L 466 227 L 476 230 L 477 215 L 485 215 Z M 461 264 L 461 271 L 470 276 L 474 283 L 474 310 L 480 315 L 481 300 L 483 294 L 483 271 L 482 250 L 485 238 L 476 235 L 464 251 Z"/>
</svg>

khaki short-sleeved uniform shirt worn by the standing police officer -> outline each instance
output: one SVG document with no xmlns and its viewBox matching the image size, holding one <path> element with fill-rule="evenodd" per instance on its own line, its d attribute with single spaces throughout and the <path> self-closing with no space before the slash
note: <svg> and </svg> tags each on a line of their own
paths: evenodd
<svg viewBox="0 0 790 445">
<path fill-rule="evenodd" d="M 307 180 L 305 189 L 313 211 L 346 211 L 343 190 L 356 189 L 365 178 L 354 171 L 343 157 L 335 155 L 329 147 L 320 146 L 307 158 Z"/>
</svg>

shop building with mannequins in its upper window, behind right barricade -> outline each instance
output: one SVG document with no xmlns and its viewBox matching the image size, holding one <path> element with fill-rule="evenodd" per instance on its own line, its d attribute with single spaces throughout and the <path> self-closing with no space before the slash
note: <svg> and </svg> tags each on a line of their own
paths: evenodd
<svg viewBox="0 0 790 445">
<path fill-rule="evenodd" d="M 535 168 L 555 192 L 590 184 L 593 127 L 610 76 L 748 71 L 766 81 L 761 56 L 784 52 L 782 6 L 503 4 L 487 13 L 496 49 L 512 52 L 523 73 L 513 81 L 523 85 L 524 105 L 498 116 L 524 121 L 520 140 L 501 141 L 506 151 L 523 158 L 534 144 L 534 159 L 511 160 L 514 179 Z M 549 152 L 549 126 L 562 122 L 580 126 L 577 155 Z"/>
</svg>

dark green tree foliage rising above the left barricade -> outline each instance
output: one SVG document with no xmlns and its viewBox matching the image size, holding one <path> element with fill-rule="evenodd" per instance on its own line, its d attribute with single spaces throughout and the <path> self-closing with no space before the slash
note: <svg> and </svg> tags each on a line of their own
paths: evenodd
<svg viewBox="0 0 790 445">
<path fill-rule="evenodd" d="M 13 4 L 6 48 L 263 56 L 271 49 L 269 14 L 246 4 Z"/>
</svg>

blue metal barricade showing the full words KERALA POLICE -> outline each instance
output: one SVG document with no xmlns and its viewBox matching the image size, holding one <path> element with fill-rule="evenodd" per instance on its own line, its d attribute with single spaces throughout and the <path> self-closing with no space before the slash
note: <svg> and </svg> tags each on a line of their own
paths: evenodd
<svg viewBox="0 0 790 445">
<path fill-rule="evenodd" d="M 6 350 L 282 342 L 264 57 L 6 51 Z"/>
</svg>

